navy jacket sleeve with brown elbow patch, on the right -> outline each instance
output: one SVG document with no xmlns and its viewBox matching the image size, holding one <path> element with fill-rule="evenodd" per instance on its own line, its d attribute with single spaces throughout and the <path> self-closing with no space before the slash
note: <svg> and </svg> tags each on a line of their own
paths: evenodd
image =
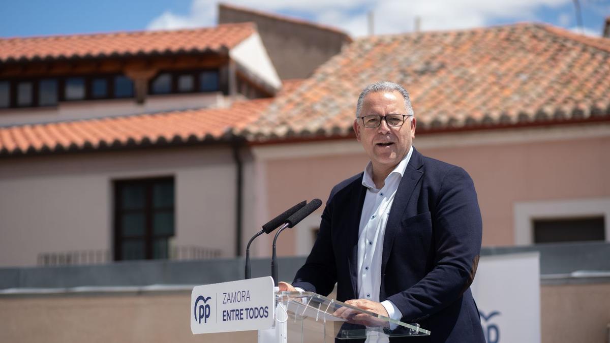
<svg viewBox="0 0 610 343">
<path fill-rule="evenodd" d="M 434 267 L 418 283 L 391 295 L 406 322 L 451 305 L 470 287 L 479 261 L 483 223 L 472 179 L 453 167 L 443 178 L 432 213 Z"/>
</svg>

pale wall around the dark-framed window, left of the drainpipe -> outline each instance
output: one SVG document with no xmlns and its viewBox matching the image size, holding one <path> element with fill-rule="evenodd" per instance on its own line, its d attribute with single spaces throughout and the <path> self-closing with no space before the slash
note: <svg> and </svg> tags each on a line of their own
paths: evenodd
<svg viewBox="0 0 610 343">
<path fill-rule="evenodd" d="M 0 267 L 38 253 L 112 248 L 112 181 L 173 176 L 176 245 L 235 249 L 230 148 L 193 147 L 0 161 Z"/>
</svg>

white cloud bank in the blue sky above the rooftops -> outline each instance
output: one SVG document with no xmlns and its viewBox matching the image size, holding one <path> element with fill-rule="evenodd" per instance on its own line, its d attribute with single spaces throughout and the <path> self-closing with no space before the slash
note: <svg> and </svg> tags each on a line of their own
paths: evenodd
<svg viewBox="0 0 610 343">
<path fill-rule="evenodd" d="M 493 20 L 535 20 L 541 6 L 559 7 L 572 0 L 235 0 L 231 4 L 278 13 L 304 13 L 318 23 L 339 27 L 353 36 L 367 34 L 367 12 L 375 13 L 375 33 L 413 31 L 415 17 L 421 29 L 447 30 L 486 26 Z M 214 0 L 193 0 L 187 15 L 162 13 L 149 29 L 213 26 L 218 5 Z"/>
</svg>

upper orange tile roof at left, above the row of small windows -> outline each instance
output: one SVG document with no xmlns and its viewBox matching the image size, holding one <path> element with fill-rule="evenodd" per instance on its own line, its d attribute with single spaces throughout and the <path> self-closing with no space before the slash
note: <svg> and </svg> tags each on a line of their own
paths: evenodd
<svg viewBox="0 0 610 343">
<path fill-rule="evenodd" d="M 253 23 L 176 31 L 0 38 L 0 63 L 85 57 L 223 51 L 256 31 Z"/>
</svg>

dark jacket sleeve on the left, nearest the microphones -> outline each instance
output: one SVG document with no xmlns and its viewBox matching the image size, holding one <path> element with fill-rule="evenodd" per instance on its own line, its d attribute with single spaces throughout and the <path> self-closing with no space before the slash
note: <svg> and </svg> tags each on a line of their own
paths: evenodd
<svg viewBox="0 0 610 343">
<path fill-rule="evenodd" d="M 322 213 L 320 231 L 318 231 L 314 247 L 307 256 L 303 267 L 296 272 L 295 280 L 292 283 L 292 286 L 321 295 L 330 294 L 337 282 L 337 267 L 331 237 L 333 193 L 334 190 Z"/>
</svg>

